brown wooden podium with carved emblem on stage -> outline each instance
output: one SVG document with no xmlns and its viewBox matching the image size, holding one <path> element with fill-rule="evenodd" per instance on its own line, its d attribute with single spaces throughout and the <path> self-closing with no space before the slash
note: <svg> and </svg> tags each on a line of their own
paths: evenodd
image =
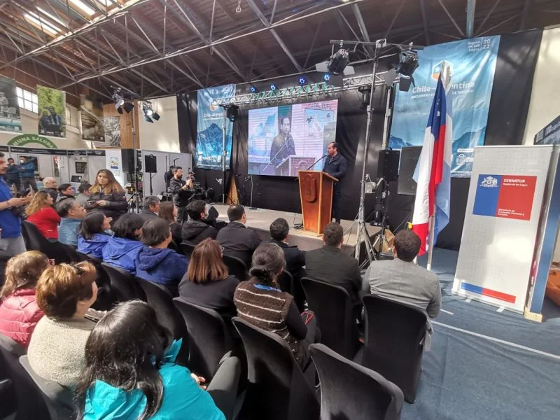
<svg viewBox="0 0 560 420">
<path fill-rule="evenodd" d="M 300 179 L 303 228 L 321 235 L 330 223 L 332 190 L 338 180 L 322 171 L 297 171 Z"/>
</svg>

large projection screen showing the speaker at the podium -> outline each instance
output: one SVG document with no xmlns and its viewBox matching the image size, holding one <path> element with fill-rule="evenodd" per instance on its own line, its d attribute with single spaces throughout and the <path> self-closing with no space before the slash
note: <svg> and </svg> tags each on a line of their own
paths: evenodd
<svg viewBox="0 0 560 420">
<path fill-rule="evenodd" d="M 248 173 L 297 176 L 335 141 L 338 100 L 250 109 Z M 319 162 L 311 169 L 323 169 Z"/>
</svg>

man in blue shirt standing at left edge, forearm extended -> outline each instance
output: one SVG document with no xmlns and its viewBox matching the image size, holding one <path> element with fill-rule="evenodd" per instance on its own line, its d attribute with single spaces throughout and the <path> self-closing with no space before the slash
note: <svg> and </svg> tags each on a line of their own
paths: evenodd
<svg viewBox="0 0 560 420">
<path fill-rule="evenodd" d="M 0 175 L 6 174 L 6 158 L 0 152 Z M 22 221 L 13 213 L 16 207 L 25 206 L 31 200 L 31 194 L 24 198 L 12 196 L 10 186 L 0 176 L 0 279 L 6 262 L 14 255 L 25 252 L 25 243 L 22 237 Z"/>
</svg>

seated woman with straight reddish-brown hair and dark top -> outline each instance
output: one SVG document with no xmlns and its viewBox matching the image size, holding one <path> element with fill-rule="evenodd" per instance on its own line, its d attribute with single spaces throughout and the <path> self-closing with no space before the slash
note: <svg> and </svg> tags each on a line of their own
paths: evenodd
<svg viewBox="0 0 560 420">
<path fill-rule="evenodd" d="M 190 255 L 188 271 L 179 283 L 179 295 L 187 302 L 218 311 L 230 321 L 237 313 L 233 295 L 238 284 L 236 276 L 228 275 L 220 243 L 207 238 Z"/>
</svg>

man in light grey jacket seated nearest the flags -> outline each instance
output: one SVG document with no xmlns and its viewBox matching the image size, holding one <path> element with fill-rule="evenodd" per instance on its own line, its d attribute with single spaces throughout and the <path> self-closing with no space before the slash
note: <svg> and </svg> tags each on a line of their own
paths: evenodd
<svg viewBox="0 0 560 420">
<path fill-rule="evenodd" d="M 442 290 L 437 274 L 414 263 L 420 246 L 420 238 L 412 230 L 398 232 L 395 259 L 372 262 L 363 278 L 363 291 L 412 305 L 435 318 L 440 313 Z"/>
</svg>

